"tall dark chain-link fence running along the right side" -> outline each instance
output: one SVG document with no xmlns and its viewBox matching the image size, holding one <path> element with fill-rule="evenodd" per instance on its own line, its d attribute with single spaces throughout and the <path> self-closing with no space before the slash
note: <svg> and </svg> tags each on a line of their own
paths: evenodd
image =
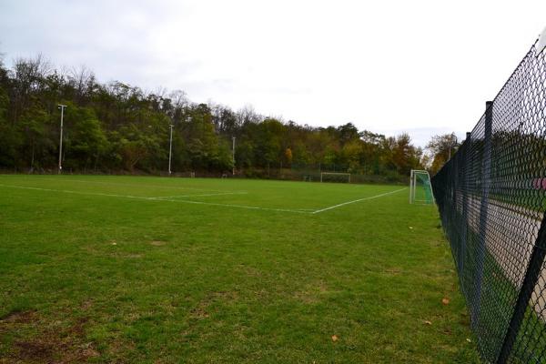
<svg viewBox="0 0 546 364">
<path fill-rule="evenodd" d="M 546 363 L 546 51 L 537 53 L 533 45 L 432 178 L 490 363 Z"/>
</svg>

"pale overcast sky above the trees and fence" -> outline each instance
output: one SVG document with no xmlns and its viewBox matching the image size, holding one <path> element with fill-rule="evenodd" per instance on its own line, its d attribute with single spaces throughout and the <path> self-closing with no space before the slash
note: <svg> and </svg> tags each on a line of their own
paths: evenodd
<svg viewBox="0 0 546 364">
<path fill-rule="evenodd" d="M 0 53 L 424 146 L 470 131 L 544 26 L 544 0 L 0 0 Z"/>
</svg>

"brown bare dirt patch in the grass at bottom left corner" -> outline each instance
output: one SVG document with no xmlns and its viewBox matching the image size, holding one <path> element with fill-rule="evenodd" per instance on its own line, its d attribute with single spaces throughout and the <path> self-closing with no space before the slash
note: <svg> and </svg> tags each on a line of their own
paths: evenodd
<svg viewBox="0 0 546 364">
<path fill-rule="evenodd" d="M 67 327 L 49 325 L 35 311 L 16 311 L 0 320 L 0 332 L 15 339 L 6 352 L 7 362 L 85 363 L 100 357 L 93 342 L 86 342 L 88 319 L 76 319 Z M 33 334 L 29 334 L 33 332 Z"/>
</svg>

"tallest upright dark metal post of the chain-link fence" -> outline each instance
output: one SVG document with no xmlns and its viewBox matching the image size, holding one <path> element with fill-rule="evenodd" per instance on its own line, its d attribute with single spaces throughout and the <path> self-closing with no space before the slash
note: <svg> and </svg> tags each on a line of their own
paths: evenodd
<svg viewBox="0 0 546 364">
<path fill-rule="evenodd" d="M 476 264 L 476 280 L 474 287 L 474 317 L 472 318 L 473 325 L 478 323 L 480 319 L 481 305 L 481 280 L 483 278 L 483 264 L 485 263 L 486 250 L 486 224 L 487 224 L 487 208 L 489 206 L 489 188 L 490 188 L 490 169 L 491 169 L 491 134 L 493 124 L 493 102 L 485 103 L 485 126 L 483 136 L 483 157 L 481 171 L 481 198 L 480 198 L 480 245 L 478 246 L 478 257 Z"/>
</svg>

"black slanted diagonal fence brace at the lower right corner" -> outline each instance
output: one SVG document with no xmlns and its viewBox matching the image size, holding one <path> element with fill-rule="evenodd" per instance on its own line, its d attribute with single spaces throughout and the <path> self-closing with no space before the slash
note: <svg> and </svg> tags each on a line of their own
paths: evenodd
<svg viewBox="0 0 546 364">
<path fill-rule="evenodd" d="M 506 337 L 502 342 L 501 352 L 499 353 L 498 364 L 505 364 L 510 358 L 511 349 L 516 341 L 518 332 L 520 331 L 521 322 L 525 316 L 525 310 L 529 306 L 529 300 L 531 299 L 532 292 L 535 285 L 541 275 L 541 267 L 546 257 L 546 212 L 544 213 L 541 221 L 541 228 L 539 229 L 539 235 L 532 248 L 531 258 L 529 259 L 529 265 L 525 272 L 525 278 L 521 283 L 520 294 L 514 307 L 510 325 L 506 331 Z"/>
</svg>

